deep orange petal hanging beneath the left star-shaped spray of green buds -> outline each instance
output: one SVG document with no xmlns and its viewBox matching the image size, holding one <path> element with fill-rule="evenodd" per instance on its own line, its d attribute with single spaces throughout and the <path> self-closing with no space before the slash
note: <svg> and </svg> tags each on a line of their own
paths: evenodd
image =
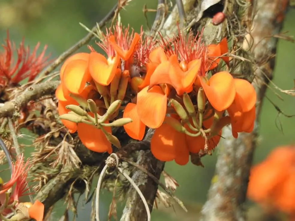
<svg viewBox="0 0 295 221">
<path fill-rule="evenodd" d="M 104 129 L 108 133 L 112 132 L 110 127 L 104 127 Z M 99 153 L 112 153 L 111 143 L 106 139 L 106 135 L 102 130 L 95 128 L 93 125 L 78 123 L 77 131 L 81 142 L 89 150 Z"/>
</svg>

